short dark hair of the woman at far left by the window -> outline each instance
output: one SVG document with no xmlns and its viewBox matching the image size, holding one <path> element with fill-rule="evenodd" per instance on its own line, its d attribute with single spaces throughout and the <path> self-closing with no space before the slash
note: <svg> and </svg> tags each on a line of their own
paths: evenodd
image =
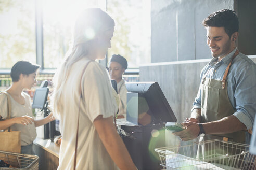
<svg viewBox="0 0 256 170">
<path fill-rule="evenodd" d="M 20 79 L 20 74 L 29 75 L 35 73 L 37 69 L 40 68 L 40 65 L 32 64 L 29 61 L 18 61 L 11 68 L 11 79 L 12 82 L 17 82 Z"/>
</svg>

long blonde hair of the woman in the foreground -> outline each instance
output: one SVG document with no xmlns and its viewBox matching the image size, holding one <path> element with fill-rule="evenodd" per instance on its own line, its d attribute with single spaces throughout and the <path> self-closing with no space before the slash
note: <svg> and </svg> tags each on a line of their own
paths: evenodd
<svg viewBox="0 0 256 170">
<path fill-rule="evenodd" d="M 84 10 L 76 20 L 73 32 L 73 46 L 67 52 L 64 62 L 58 68 L 53 78 L 54 92 L 51 96 L 50 107 L 52 107 L 56 118 L 59 118 L 63 112 L 60 98 L 71 66 L 87 56 L 95 36 L 112 27 L 114 27 L 114 20 L 99 8 Z"/>
</svg>

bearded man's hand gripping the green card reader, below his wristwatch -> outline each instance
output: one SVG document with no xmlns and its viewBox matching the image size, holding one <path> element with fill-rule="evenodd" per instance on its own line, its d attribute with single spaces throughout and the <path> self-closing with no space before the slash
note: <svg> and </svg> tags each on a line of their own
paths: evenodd
<svg viewBox="0 0 256 170">
<path fill-rule="evenodd" d="M 194 120 L 194 118 L 192 118 Z M 173 132 L 172 134 L 179 136 L 182 141 L 192 140 L 198 137 L 199 134 L 199 125 L 195 122 L 181 123 L 181 125 L 185 126 L 186 129 L 179 132 Z"/>
</svg>

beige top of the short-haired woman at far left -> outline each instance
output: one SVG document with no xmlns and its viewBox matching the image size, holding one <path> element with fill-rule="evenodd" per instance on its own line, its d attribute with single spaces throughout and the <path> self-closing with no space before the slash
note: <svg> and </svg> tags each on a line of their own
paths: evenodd
<svg viewBox="0 0 256 170">
<path fill-rule="evenodd" d="M 22 92 L 21 95 L 25 98 L 25 104 L 21 105 L 10 96 L 11 101 L 11 118 L 21 117 L 21 116 L 31 116 L 32 106 L 31 98 L 27 93 Z M 0 116 L 3 119 L 7 118 L 7 96 L 5 94 L 0 94 Z M 11 126 L 12 131 L 20 131 L 21 146 L 30 145 L 36 138 L 36 130 L 34 123 L 29 125 L 14 124 Z"/>
</svg>

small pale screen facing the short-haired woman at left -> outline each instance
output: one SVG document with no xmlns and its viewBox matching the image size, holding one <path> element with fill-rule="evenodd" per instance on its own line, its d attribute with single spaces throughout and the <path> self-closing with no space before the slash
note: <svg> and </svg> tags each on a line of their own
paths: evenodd
<svg viewBox="0 0 256 170">
<path fill-rule="evenodd" d="M 49 92 L 49 89 L 47 87 L 37 88 L 35 90 L 32 108 L 43 109 L 47 101 L 48 92 Z"/>
</svg>

